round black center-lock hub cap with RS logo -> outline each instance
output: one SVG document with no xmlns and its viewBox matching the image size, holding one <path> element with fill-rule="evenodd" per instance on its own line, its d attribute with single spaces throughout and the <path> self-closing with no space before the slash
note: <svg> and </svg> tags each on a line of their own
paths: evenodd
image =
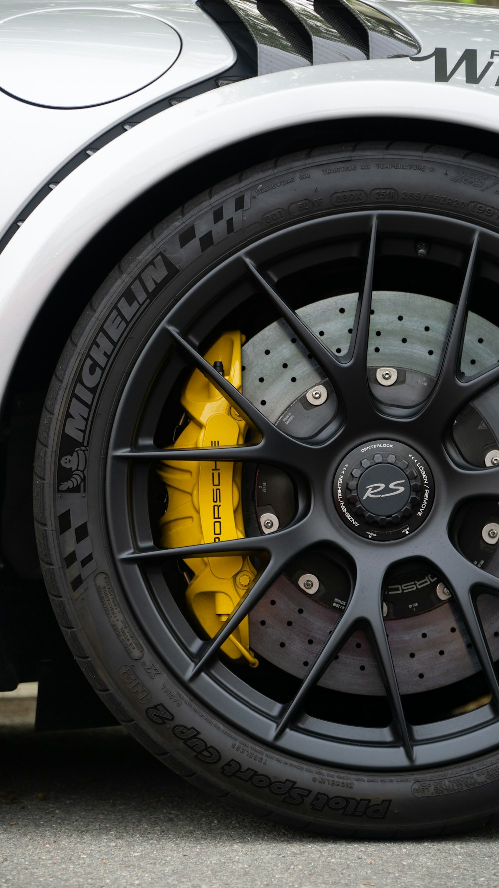
<svg viewBox="0 0 499 888">
<path fill-rule="evenodd" d="M 371 540 L 407 536 L 433 503 L 433 478 L 416 450 L 400 441 L 362 444 L 340 464 L 334 502 L 351 530 Z"/>
</svg>

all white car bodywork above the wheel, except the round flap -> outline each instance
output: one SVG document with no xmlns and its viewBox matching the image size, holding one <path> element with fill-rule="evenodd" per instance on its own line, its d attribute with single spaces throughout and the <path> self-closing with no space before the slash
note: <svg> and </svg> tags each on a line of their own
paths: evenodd
<svg viewBox="0 0 499 888">
<path fill-rule="evenodd" d="M 36 314 L 82 247 L 137 195 L 186 164 L 256 134 L 357 117 L 465 122 L 481 131 L 499 132 L 497 13 L 450 5 L 379 3 L 379 9 L 416 36 L 421 46 L 418 57 L 302 67 L 207 91 L 123 130 L 120 138 L 90 156 L 23 218 L 23 207 L 38 189 L 51 183 L 52 177 L 57 180 L 61 166 L 99 134 L 126 121 L 137 109 L 153 106 L 233 63 L 230 43 L 195 4 L 118 3 L 108 8 L 132 6 L 167 22 L 182 40 L 179 59 L 154 83 L 109 104 L 71 110 L 36 107 L 0 92 L 4 122 L 0 233 L 16 220 L 22 223 L 0 255 L 0 400 Z M 8 18 L 27 8 L 41 7 L 31 0 L 4 4 L 3 15 Z M 464 51 L 471 55 L 464 58 Z M 419 59 L 422 63 L 416 64 Z M 442 78 L 442 66 L 446 75 L 435 83 Z"/>
</svg>

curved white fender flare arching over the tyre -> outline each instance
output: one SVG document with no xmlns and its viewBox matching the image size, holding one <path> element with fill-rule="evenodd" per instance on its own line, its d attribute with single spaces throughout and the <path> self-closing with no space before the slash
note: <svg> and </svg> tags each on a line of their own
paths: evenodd
<svg viewBox="0 0 499 888">
<path fill-rule="evenodd" d="M 151 117 L 74 170 L 0 256 L 0 403 L 27 333 L 66 268 L 124 206 L 187 164 L 257 134 L 361 116 L 465 120 L 499 132 L 494 93 L 415 82 L 408 65 L 323 65 L 225 86 Z"/>
</svg>

